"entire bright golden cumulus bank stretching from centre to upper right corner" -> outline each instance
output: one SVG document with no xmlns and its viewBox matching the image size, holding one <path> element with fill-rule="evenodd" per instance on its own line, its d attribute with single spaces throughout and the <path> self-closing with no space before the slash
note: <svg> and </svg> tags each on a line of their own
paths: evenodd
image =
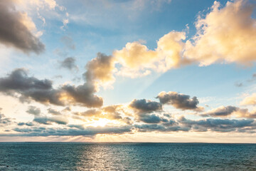
<svg viewBox="0 0 256 171">
<path fill-rule="evenodd" d="M 154 50 L 137 41 L 127 43 L 113 52 L 115 60 L 121 64 L 117 74 L 134 78 L 190 63 L 252 65 L 256 59 L 254 8 L 245 0 L 228 1 L 223 8 L 215 1 L 205 17 L 198 16 L 197 33 L 186 42 L 186 32 L 171 31 L 159 38 Z"/>
</svg>

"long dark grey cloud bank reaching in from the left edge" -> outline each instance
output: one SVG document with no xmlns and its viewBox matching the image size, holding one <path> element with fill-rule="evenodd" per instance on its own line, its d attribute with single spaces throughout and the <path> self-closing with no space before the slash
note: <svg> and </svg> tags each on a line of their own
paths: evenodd
<svg viewBox="0 0 256 171">
<path fill-rule="evenodd" d="M 80 86 L 60 86 L 53 88 L 50 80 L 38 80 L 38 78 L 28 77 L 28 73 L 23 68 L 18 68 L 4 78 L 0 78 L 0 92 L 6 95 L 19 93 L 20 100 L 36 100 L 40 103 L 51 103 L 53 105 L 83 105 L 88 108 L 100 107 L 103 99 L 94 93 L 97 92 L 91 83 Z M 63 100 L 65 96 L 67 100 Z"/>
</svg>

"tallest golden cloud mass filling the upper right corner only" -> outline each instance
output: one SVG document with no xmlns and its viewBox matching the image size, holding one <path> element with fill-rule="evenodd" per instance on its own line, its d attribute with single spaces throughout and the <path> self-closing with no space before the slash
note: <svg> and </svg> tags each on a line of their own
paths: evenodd
<svg viewBox="0 0 256 171">
<path fill-rule="evenodd" d="M 201 66 L 218 62 L 251 66 L 256 60 L 254 8 L 249 1 L 236 0 L 221 9 L 215 1 L 206 17 L 198 16 L 197 34 L 186 42 L 183 55 Z"/>
</svg>

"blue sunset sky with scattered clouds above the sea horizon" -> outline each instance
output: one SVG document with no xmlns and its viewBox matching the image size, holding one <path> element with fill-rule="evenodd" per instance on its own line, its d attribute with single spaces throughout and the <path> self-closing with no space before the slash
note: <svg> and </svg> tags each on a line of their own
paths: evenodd
<svg viewBox="0 0 256 171">
<path fill-rule="evenodd" d="M 256 1 L 1 0 L 1 142 L 256 142 Z"/>
</svg>

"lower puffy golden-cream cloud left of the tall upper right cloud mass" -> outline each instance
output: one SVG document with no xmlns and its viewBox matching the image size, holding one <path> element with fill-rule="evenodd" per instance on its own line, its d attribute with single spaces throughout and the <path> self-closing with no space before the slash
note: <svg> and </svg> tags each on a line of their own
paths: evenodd
<svg viewBox="0 0 256 171">
<path fill-rule="evenodd" d="M 185 38 L 185 32 L 171 31 L 159 39 L 154 51 L 137 41 L 127 43 L 113 52 L 114 59 L 122 65 L 118 74 L 134 78 L 146 76 L 151 70 L 165 72 L 190 63 L 182 56 Z"/>
</svg>

